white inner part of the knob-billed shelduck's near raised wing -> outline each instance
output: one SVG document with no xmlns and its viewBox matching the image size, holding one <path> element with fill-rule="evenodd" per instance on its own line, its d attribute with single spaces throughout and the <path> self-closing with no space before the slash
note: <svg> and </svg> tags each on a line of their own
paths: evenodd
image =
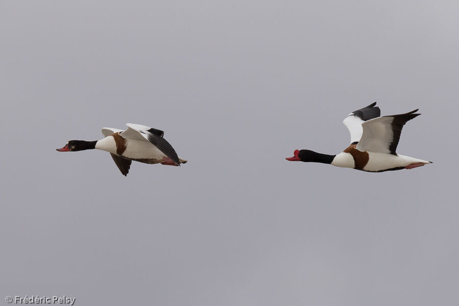
<svg viewBox="0 0 459 306">
<path fill-rule="evenodd" d="M 390 153 L 389 147 L 394 139 L 392 121 L 394 117 L 378 117 L 362 123 L 363 134 L 355 146 L 361 151 Z"/>
</svg>

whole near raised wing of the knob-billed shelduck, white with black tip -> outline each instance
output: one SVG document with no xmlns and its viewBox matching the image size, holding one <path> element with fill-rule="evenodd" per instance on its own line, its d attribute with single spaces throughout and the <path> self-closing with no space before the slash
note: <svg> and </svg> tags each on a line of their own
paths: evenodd
<svg viewBox="0 0 459 306">
<path fill-rule="evenodd" d="M 403 125 L 405 125 L 407 121 L 419 116 L 420 114 L 414 114 L 417 111 L 418 110 L 414 110 L 405 114 L 383 116 L 362 123 L 362 138 L 355 148 L 361 151 L 397 155 L 396 149 Z"/>
</svg>

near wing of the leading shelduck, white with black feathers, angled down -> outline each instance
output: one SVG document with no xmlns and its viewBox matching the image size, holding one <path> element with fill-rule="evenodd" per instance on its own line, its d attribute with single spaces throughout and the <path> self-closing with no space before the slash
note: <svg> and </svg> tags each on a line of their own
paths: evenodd
<svg viewBox="0 0 459 306">
<path fill-rule="evenodd" d="M 126 125 L 128 129 L 120 134 L 123 138 L 149 141 L 180 166 L 179 157 L 172 145 L 164 139 L 163 131 L 140 124 L 126 123 Z"/>
</svg>

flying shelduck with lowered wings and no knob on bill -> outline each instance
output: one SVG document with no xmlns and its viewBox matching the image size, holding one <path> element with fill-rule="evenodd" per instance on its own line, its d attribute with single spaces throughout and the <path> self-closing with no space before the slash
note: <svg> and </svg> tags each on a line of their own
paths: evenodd
<svg viewBox="0 0 459 306">
<path fill-rule="evenodd" d="M 127 130 L 104 127 L 105 138 L 95 141 L 70 140 L 60 152 L 98 149 L 110 152 L 121 173 L 126 176 L 131 162 L 180 166 L 187 160 L 177 156 L 174 148 L 164 139 L 164 132 L 151 127 L 127 123 Z"/>
</svg>

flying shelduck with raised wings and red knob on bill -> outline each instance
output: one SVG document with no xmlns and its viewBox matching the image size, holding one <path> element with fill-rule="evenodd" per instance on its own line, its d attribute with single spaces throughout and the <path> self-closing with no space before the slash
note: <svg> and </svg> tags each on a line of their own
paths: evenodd
<svg viewBox="0 0 459 306">
<path fill-rule="evenodd" d="M 419 116 L 418 110 L 382 116 L 375 103 L 350 113 L 343 121 L 350 132 L 351 144 L 338 155 L 311 150 L 295 150 L 288 161 L 316 162 L 368 172 L 413 169 L 430 164 L 421 159 L 396 153 L 403 125 Z"/>
</svg>

